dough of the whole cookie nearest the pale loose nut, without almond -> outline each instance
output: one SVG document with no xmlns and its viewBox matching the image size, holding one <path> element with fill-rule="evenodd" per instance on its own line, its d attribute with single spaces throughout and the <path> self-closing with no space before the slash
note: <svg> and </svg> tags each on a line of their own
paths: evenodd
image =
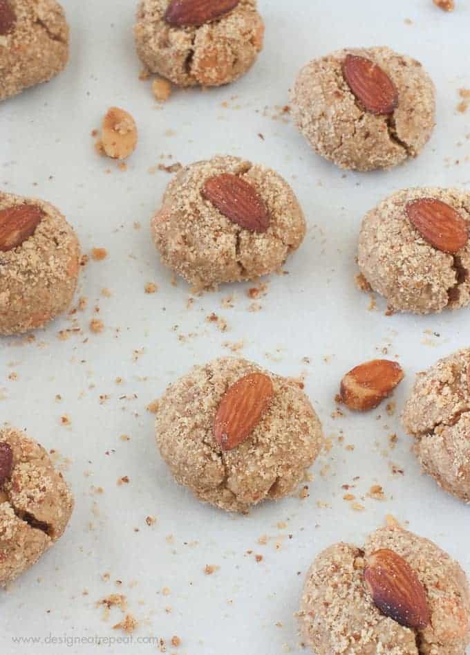
<svg viewBox="0 0 470 655">
<path fill-rule="evenodd" d="M 250 185 L 257 208 L 264 207 L 268 224 L 259 228 L 263 231 L 243 227 L 226 215 L 224 204 L 219 209 L 207 199 L 207 181 L 227 174 L 232 182 L 236 176 Z M 279 174 L 238 157 L 218 156 L 191 164 L 173 178 L 151 230 L 163 263 L 200 291 L 279 269 L 299 248 L 306 223 L 294 192 Z"/>
</svg>

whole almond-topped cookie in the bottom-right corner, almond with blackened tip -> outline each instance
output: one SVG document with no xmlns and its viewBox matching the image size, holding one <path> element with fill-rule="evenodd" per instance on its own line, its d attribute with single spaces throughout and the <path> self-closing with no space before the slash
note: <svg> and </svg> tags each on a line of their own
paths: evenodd
<svg viewBox="0 0 470 655">
<path fill-rule="evenodd" d="M 364 548 L 339 543 L 320 553 L 299 612 L 315 655 L 464 655 L 469 620 L 459 564 L 398 526 L 379 528 Z"/>
</svg>

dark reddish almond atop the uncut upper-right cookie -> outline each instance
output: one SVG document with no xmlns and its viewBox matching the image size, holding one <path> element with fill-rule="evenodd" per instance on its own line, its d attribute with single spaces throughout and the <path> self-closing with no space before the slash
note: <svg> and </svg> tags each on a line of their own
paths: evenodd
<svg viewBox="0 0 470 655">
<path fill-rule="evenodd" d="M 395 84 L 378 64 L 366 57 L 346 55 L 343 75 L 362 107 L 371 113 L 389 114 L 398 106 Z"/>
</svg>

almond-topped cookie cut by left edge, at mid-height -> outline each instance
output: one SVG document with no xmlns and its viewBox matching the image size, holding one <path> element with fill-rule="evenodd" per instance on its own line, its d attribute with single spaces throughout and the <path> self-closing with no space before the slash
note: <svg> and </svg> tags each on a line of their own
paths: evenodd
<svg viewBox="0 0 470 655">
<path fill-rule="evenodd" d="M 77 235 L 57 207 L 0 193 L 0 334 L 40 328 L 66 311 L 78 272 Z"/>
</svg>

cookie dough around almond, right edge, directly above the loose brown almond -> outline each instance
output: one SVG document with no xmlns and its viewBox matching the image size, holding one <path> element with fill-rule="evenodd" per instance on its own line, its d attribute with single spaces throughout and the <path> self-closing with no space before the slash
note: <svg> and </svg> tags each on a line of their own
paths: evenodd
<svg viewBox="0 0 470 655">
<path fill-rule="evenodd" d="M 470 243 L 456 255 L 448 255 L 423 239 L 406 215 L 406 204 L 419 198 L 450 205 L 470 228 L 470 194 L 436 187 L 404 189 L 388 196 L 364 217 L 359 269 L 393 311 L 427 314 L 444 307 L 467 306 Z"/>
</svg>

